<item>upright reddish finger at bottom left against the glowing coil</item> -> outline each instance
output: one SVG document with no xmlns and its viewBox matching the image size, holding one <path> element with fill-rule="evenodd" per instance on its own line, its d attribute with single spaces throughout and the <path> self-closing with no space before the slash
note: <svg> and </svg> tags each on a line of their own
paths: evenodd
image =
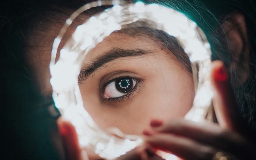
<svg viewBox="0 0 256 160">
<path fill-rule="evenodd" d="M 57 124 L 62 136 L 67 159 L 81 160 L 81 150 L 74 126 L 70 122 L 62 120 L 62 118 L 58 119 Z"/>
</svg>

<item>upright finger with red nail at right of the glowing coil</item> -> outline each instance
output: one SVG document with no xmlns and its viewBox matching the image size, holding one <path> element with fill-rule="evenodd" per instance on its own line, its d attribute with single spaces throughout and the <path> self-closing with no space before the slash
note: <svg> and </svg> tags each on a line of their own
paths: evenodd
<svg viewBox="0 0 256 160">
<path fill-rule="evenodd" d="M 212 62 L 211 79 L 214 87 L 214 110 L 219 125 L 240 132 L 245 123 L 240 116 L 235 94 L 228 81 L 228 74 L 223 62 L 219 60 Z"/>
</svg>

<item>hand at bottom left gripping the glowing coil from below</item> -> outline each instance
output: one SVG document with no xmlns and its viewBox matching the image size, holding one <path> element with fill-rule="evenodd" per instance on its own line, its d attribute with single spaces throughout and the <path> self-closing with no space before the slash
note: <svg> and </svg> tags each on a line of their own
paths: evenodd
<svg viewBox="0 0 256 160">
<path fill-rule="evenodd" d="M 79 146 L 74 126 L 61 118 L 58 119 L 57 124 L 64 146 L 64 150 L 58 150 L 60 157 L 65 160 L 88 160 L 86 150 L 81 149 Z M 102 160 L 96 155 L 93 155 L 92 159 Z M 116 160 L 162 160 L 162 158 L 154 154 L 148 146 L 140 146 L 118 157 Z"/>
</svg>

